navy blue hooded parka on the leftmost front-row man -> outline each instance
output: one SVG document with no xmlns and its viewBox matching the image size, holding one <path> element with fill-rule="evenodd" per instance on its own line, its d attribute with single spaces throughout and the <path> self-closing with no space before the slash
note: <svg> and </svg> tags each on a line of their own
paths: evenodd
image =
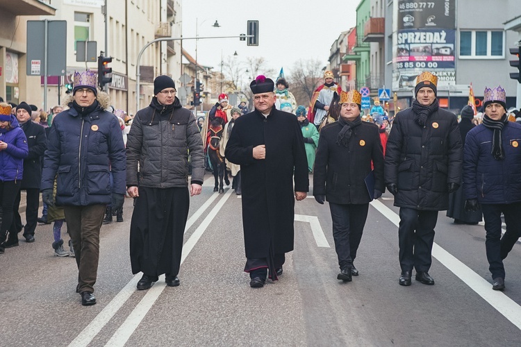
<svg viewBox="0 0 521 347">
<path fill-rule="evenodd" d="M 112 193 L 125 194 L 125 146 L 115 115 L 98 105 L 83 117 L 74 108 L 55 116 L 47 139 L 41 189 L 52 189 L 56 175 L 57 205 L 108 204 Z"/>
</svg>

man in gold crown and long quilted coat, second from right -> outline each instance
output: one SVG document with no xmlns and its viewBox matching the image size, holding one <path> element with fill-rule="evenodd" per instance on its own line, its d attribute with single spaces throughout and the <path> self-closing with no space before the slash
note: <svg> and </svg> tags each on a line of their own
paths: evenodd
<svg viewBox="0 0 521 347">
<path fill-rule="evenodd" d="M 456 116 L 439 107 L 438 78 L 428 71 L 416 78 L 411 108 L 397 114 L 390 130 L 385 162 L 389 192 L 400 208 L 399 284 L 415 280 L 433 285 L 429 276 L 438 211 L 449 208 L 449 193 L 461 180 L 462 144 Z"/>
</svg>

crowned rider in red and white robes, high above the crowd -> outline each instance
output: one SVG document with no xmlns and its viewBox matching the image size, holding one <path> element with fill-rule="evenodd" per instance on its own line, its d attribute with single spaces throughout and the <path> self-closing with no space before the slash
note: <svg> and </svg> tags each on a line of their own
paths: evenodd
<svg viewBox="0 0 521 347">
<path fill-rule="evenodd" d="M 329 105 L 333 101 L 335 92 L 340 95 L 342 88 L 338 83 L 333 81 L 333 71 L 324 72 L 324 84 L 317 87 L 313 96 L 311 97 L 311 104 L 309 106 L 308 119 L 310 123 L 315 124 L 317 128 L 326 117 L 329 111 Z"/>
</svg>

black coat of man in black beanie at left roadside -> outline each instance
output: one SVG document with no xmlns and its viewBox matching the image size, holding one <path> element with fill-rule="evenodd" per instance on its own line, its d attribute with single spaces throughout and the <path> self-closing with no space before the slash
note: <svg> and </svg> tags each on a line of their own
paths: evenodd
<svg viewBox="0 0 521 347">
<path fill-rule="evenodd" d="M 47 136 L 45 128 L 33 121 L 28 121 L 22 126 L 27 137 L 29 154 L 24 159 L 24 176 L 21 189 L 40 189 L 42 185 L 42 160 L 47 148 Z"/>
</svg>

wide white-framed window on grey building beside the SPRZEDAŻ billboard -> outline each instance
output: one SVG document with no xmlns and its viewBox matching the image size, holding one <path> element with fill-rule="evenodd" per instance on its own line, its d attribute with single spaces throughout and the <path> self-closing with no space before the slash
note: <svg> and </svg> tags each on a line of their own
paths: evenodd
<svg viewBox="0 0 521 347">
<path fill-rule="evenodd" d="M 504 58 L 503 31 L 460 31 L 460 59 Z"/>
</svg>

